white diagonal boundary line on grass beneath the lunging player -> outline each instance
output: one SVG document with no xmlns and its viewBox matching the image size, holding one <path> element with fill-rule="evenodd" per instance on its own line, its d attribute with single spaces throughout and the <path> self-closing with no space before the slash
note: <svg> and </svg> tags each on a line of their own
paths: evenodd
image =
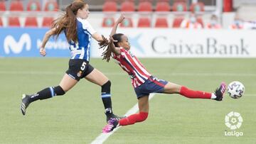
<svg viewBox="0 0 256 144">
<path fill-rule="evenodd" d="M 154 97 L 155 94 L 149 94 L 149 100 L 152 99 Z M 129 109 L 129 111 L 127 111 L 127 113 L 124 114 L 124 116 L 129 116 L 133 113 L 137 113 L 137 111 L 139 111 L 138 109 L 138 103 L 135 104 L 132 109 Z M 117 131 L 121 126 L 114 128 L 114 131 L 112 131 L 111 133 L 101 133 L 100 135 L 97 136 L 97 138 L 95 138 L 95 140 L 92 141 L 91 144 L 101 144 L 104 143 L 105 140 L 107 140 L 107 138 L 110 137 L 110 135 L 112 135 L 115 131 Z"/>
</svg>

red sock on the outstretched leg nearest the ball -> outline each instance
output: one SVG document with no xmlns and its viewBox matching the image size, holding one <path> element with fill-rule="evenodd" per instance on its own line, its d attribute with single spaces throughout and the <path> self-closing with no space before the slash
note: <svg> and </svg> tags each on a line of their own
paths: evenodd
<svg viewBox="0 0 256 144">
<path fill-rule="evenodd" d="M 184 86 L 181 87 L 180 94 L 191 99 L 210 99 L 211 97 L 211 93 L 193 91 L 192 89 L 188 89 L 187 87 L 184 87 Z"/>
</svg>

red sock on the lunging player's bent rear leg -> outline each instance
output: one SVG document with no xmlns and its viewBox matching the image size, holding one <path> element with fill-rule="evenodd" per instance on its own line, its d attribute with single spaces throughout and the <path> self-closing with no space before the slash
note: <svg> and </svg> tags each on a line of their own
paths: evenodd
<svg viewBox="0 0 256 144">
<path fill-rule="evenodd" d="M 122 118 L 119 120 L 120 126 L 132 125 L 137 122 L 145 121 L 149 113 L 139 112 L 128 116 L 127 118 Z"/>
</svg>

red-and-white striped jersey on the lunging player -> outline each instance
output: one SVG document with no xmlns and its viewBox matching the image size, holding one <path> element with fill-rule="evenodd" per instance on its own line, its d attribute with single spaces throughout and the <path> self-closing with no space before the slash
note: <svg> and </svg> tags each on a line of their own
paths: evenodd
<svg viewBox="0 0 256 144">
<path fill-rule="evenodd" d="M 149 79 L 151 74 L 146 70 L 136 56 L 132 55 L 129 50 L 120 48 L 120 55 L 114 55 L 116 62 L 122 69 L 129 74 L 132 79 L 132 86 L 139 87 L 146 79 Z"/>
</svg>

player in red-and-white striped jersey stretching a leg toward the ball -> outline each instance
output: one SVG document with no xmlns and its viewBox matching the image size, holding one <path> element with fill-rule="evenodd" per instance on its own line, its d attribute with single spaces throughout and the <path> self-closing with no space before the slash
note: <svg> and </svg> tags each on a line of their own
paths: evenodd
<svg viewBox="0 0 256 144">
<path fill-rule="evenodd" d="M 120 120 L 111 118 L 107 126 L 102 129 L 102 132 L 109 133 L 117 126 L 132 125 L 137 122 L 145 121 L 149 113 L 149 94 L 150 93 L 164 93 L 164 94 L 181 94 L 191 99 L 215 99 L 222 101 L 225 92 L 225 84 L 221 83 L 220 87 L 214 93 L 194 91 L 187 87 L 167 82 L 152 76 L 135 55 L 132 55 L 129 41 L 126 35 L 116 33 L 117 26 L 124 20 L 124 16 L 120 16 L 110 35 L 110 44 L 105 52 L 103 52 L 103 60 L 110 60 L 112 56 L 114 60 L 122 67 L 122 69 L 129 74 L 132 79 L 132 86 L 137 94 L 139 113 L 132 114 L 127 118 Z M 104 48 L 105 46 L 101 46 Z"/>
</svg>

